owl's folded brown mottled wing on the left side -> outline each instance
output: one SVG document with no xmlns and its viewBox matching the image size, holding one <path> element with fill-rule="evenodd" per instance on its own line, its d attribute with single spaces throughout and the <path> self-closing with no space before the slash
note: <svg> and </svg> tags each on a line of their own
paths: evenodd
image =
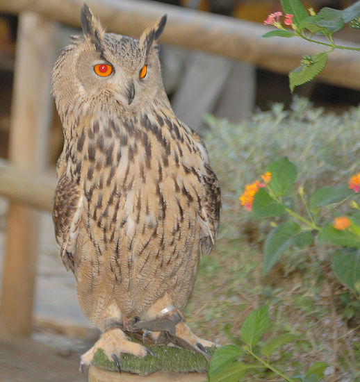
<svg viewBox="0 0 360 382">
<path fill-rule="evenodd" d="M 65 268 L 72 269 L 72 272 L 82 210 L 83 197 L 79 188 L 63 173 L 55 191 L 53 219 L 61 259 Z"/>
</svg>

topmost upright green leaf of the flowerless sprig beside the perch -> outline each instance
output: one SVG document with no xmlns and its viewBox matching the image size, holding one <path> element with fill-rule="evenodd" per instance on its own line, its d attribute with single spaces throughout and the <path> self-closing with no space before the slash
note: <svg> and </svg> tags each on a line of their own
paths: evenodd
<svg viewBox="0 0 360 382">
<path fill-rule="evenodd" d="M 270 324 L 268 306 L 263 305 L 252 311 L 241 325 L 241 338 L 249 347 L 259 342 L 261 336 Z"/>
</svg>

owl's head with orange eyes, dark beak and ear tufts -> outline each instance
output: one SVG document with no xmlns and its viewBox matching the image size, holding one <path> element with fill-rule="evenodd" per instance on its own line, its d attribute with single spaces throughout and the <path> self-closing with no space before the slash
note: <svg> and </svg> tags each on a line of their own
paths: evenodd
<svg viewBox="0 0 360 382">
<path fill-rule="evenodd" d="M 84 4 L 83 35 L 63 51 L 52 72 L 52 93 L 60 117 L 69 111 L 129 111 L 165 97 L 156 42 L 166 15 L 150 25 L 139 40 L 105 33 Z"/>
</svg>

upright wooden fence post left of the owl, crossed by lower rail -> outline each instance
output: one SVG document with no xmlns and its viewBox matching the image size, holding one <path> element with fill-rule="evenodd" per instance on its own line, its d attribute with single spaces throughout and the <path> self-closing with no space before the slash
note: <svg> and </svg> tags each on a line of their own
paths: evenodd
<svg viewBox="0 0 360 382">
<path fill-rule="evenodd" d="M 12 165 L 29 173 L 44 169 L 47 158 L 52 52 L 54 23 L 35 13 L 20 14 L 9 157 Z M 31 332 L 38 231 L 38 213 L 10 203 L 0 317 L 17 335 Z"/>
</svg>

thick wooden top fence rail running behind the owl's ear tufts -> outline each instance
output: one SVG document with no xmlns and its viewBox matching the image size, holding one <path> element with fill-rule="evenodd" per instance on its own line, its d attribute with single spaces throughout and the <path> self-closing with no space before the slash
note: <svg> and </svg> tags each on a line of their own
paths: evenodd
<svg viewBox="0 0 360 382">
<path fill-rule="evenodd" d="M 259 23 L 170 6 L 156 1 L 85 0 L 108 31 L 138 37 L 147 25 L 168 15 L 161 42 L 215 53 L 252 63 L 273 72 L 287 73 L 306 54 L 323 50 L 295 38 L 260 38 L 271 30 Z M 50 19 L 80 26 L 83 0 L 0 0 L 0 10 L 19 13 L 33 10 Z M 337 40 L 338 44 L 348 44 Z M 360 47 L 360 44 L 351 44 Z M 334 51 L 319 78 L 347 88 L 360 89 L 360 54 Z"/>
</svg>

